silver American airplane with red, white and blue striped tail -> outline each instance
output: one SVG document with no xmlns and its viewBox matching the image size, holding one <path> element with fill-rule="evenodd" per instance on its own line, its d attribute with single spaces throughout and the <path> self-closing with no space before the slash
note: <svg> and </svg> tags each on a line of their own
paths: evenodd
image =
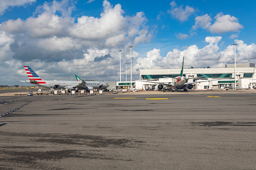
<svg viewBox="0 0 256 170">
<path fill-rule="evenodd" d="M 41 79 L 29 66 L 24 66 L 29 80 L 22 81 L 26 83 L 35 84 L 50 89 L 68 89 L 68 90 L 94 90 L 104 89 L 109 87 L 108 83 L 101 81 L 57 81 L 57 80 L 43 80 Z M 80 79 L 80 78 L 79 78 Z"/>
</svg>

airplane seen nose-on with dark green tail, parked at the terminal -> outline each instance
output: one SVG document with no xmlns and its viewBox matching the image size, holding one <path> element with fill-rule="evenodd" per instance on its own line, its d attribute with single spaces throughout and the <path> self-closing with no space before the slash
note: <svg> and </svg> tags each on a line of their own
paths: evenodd
<svg viewBox="0 0 256 170">
<path fill-rule="evenodd" d="M 186 83 L 186 80 L 188 80 L 188 79 L 196 79 L 196 78 L 200 78 L 200 77 L 185 78 L 183 76 L 183 67 L 184 67 L 184 57 L 183 57 L 182 70 L 181 70 L 180 76 L 175 77 L 175 78 L 164 77 L 164 78 L 169 78 L 169 79 L 175 79 L 175 81 L 166 82 L 166 83 L 152 82 L 152 81 L 144 81 L 144 82 L 151 82 L 151 83 L 159 84 L 157 86 L 159 90 L 162 90 L 163 86 L 165 86 L 166 90 L 169 90 L 169 91 L 174 91 L 174 89 L 175 89 L 175 91 L 177 91 L 177 89 L 183 89 L 183 91 L 188 91 L 188 89 L 192 89 L 194 87 L 193 84 L 195 84 L 195 83 L 214 81 L 214 80 L 201 80 L 201 81 Z M 202 77 L 204 77 L 204 76 L 202 76 Z"/>
</svg>

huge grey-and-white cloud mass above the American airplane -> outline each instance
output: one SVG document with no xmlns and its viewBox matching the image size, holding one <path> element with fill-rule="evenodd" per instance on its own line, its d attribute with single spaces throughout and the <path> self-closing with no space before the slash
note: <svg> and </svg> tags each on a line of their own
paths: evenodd
<svg viewBox="0 0 256 170">
<path fill-rule="evenodd" d="M 37 16 L 1 23 L 0 31 L 15 40 L 10 46 L 12 57 L 21 61 L 70 61 L 83 58 L 88 49 L 112 50 L 128 44 L 138 45 L 148 42 L 154 34 L 146 26 L 143 12 L 124 16 L 120 4 L 113 7 L 105 0 L 99 18 L 79 16 L 74 19 L 69 16 L 73 5 L 67 0 L 45 2 L 37 8 Z M 94 57 L 97 56 L 101 54 Z"/>
</svg>

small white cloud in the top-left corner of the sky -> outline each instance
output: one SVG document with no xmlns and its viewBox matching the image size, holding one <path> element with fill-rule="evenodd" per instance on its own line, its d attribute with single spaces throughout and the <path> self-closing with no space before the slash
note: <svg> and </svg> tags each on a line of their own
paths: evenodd
<svg viewBox="0 0 256 170">
<path fill-rule="evenodd" d="M 36 0 L 12 0 L 12 1 L 1 0 L 0 15 L 3 15 L 6 12 L 6 10 L 10 10 L 11 8 L 24 6 L 26 4 L 31 4 L 34 2 L 36 2 Z"/>
</svg>

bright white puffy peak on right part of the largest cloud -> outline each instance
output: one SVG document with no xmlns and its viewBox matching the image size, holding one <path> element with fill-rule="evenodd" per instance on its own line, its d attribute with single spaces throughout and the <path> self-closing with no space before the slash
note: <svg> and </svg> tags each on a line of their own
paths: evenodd
<svg viewBox="0 0 256 170">
<path fill-rule="evenodd" d="M 114 8 L 104 1 L 101 18 L 82 16 L 70 27 L 70 36 L 85 40 L 99 40 L 124 34 L 127 20 L 122 16 L 123 10 L 118 4 Z"/>
</svg>

